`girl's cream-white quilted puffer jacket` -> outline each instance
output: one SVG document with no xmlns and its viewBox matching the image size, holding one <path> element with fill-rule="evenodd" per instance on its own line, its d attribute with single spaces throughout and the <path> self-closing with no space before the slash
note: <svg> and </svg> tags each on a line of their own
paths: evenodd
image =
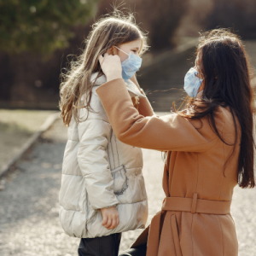
<svg viewBox="0 0 256 256">
<path fill-rule="evenodd" d="M 144 228 L 148 218 L 142 149 L 121 143 L 115 137 L 96 94 L 96 88 L 106 81 L 105 76 L 100 77 L 92 90 L 90 107 L 94 112 L 82 108 L 79 117 L 85 120 L 77 124 L 72 118 L 67 131 L 60 219 L 68 236 L 92 238 L 136 230 Z M 131 96 L 145 97 L 131 80 L 127 81 L 127 90 Z M 119 225 L 108 230 L 102 226 L 99 209 L 115 205 Z"/>
</svg>

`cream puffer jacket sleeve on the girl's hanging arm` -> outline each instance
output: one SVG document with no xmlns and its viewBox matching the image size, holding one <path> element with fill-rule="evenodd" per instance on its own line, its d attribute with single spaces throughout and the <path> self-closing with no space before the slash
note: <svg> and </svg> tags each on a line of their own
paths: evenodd
<svg viewBox="0 0 256 256">
<path fill-rule="evenodd" d="M 86 117 L 86 110 L 80 109 Z M 84 113 L 84 114 L 83 114 Z M 84 176 L 91 207 L 101 209 L 119 203 L 113 193 L 113 177 L 108 163 L 108 138 L 111 125 L 97 114 L 79 123 L 78 161 Z"/>
</svg>

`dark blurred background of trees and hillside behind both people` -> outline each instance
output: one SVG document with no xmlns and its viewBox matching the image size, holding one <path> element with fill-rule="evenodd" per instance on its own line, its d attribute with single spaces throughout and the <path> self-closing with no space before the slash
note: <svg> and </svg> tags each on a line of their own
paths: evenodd
<svg viewBox="0 0 256 256">
<path fill-rule="evenodd" d="M 217 26 L 237 32 L 256 63 L 255 0 L 0 0 L 0 108 L 57 109 L 67 55 L 79 55 L 94 21 L 120 3 L 148 32 L 151 48 L 138 73 L 144 90 L 182 89 L 195 38 Z M 179 96 L 149 98 L 155 110 L 169 111 Z"/>
</svg>

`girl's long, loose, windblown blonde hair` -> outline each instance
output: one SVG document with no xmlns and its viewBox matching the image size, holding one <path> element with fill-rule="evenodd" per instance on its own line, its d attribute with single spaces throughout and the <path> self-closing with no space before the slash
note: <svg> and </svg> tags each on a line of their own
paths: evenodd
<svg viewBox="0 0 256 256">
<path fill-rule="evenodd" d="M 142 55 L 147 49 L 145 34 L 136 25 L 133 15 L 123 15 L 119 11 L 113 15 L 98 20 L 93 26 L 88 38 L 85 40 L 85 49 L 78 56 L 77 61 L 70 62 L 70 68 L 61 73 L 61 118 L 68 126 L 72 115 L 79 122 L 79 109 L 90 108 L 91 90 L 96 79 L 102 76 L 102 69 L 98 56 L 107 52 L 108 49 L 119 44 L 125 44 L 137 39 L 142 40 L 139 54 Z M 94 82 L 90 82 L 92 73 L 98 72 Z M 83 97 L 84 101 L 81 102 Z"/>
</svg>

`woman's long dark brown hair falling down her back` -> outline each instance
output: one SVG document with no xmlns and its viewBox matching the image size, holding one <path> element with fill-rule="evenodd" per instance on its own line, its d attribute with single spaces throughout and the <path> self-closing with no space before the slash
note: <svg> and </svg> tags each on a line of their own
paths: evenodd
<svg viewBox="0 0 256 256">
<path fill-rule="evenodd" d="M 253 188 L 255 186 L 253 172 L 255 148 L 253 113 L 255 109 L 251 86 L 253 69 L 249 65 L 247 53 L 241 39 L 236 34 L 225 29 L 215 29 L 201 36 L 196 55 L 201 55 L 198 68 L 204 76 L 205 88 L 201 99 L 189 99 L 187 102 L 189 111 L 181 111 L 178 114 L 190 119 L 201 119 L 207 116 L 212 130 L 225 144 L 230 146 L 238 142 L 238 125 L 240 125 L 241 151 L 237 180 L 241 188 Z M 214 112 L 220 106 L 230 107 L 236 128 L 234 144 L 225 142 L 218 133 Z"/>
</svg>

